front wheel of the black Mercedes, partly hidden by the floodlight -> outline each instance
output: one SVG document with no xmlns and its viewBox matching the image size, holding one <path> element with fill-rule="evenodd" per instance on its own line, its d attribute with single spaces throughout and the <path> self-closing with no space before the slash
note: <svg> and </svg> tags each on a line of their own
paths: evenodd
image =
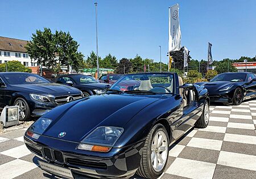
<svg viewBox="0 0 256 179">
<path fill-rule="evenodd" d="M 30 108 L 27 101 L 21 97 L 18 97 L 14 101 L 14 105 L 19 106 L 19 121 L 26 121 L 30 117 Z"/>
</svg>

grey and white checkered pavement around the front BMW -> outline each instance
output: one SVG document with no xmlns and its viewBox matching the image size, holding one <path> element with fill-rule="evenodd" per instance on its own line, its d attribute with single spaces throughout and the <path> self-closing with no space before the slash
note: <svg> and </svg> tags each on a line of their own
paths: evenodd
<svg viewBox="0 0 256 179">
<path fill-rule="evenodd" d="M 164 178 L 256 178 L 256 100 L 210 106 L 209 126 L 170 147 Z M 0 134 L 0 178 L 55 178 L 38 168 L 23 142 L 26 129 Z M 139 178 L 134 176 L 133 178 Z"/>
</svg>

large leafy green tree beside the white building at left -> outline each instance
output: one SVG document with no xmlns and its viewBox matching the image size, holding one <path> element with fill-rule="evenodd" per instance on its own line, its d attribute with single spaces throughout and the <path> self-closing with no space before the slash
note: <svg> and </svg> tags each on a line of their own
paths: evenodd
<svg viewBox="0 0 256 179">
<path fill-rule="evenodd" d="M 59 66 L 71 65 L 73 69 L 79 69 L 83 55 L 78 52 L 79 44 L 71 35 L 65 32 L 44 28 L 44 31 L 36 30 L 32 34 L 32 40 L 26 45 L 30 57 L 53 70 L 60 69 Z"/>
</svg>

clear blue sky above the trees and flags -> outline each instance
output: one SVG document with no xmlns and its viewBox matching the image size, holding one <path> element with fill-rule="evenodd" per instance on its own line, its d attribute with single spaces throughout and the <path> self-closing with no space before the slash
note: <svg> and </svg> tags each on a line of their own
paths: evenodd
<svg viewBox="0 0 256 179">
<path fill-rule="evenodd" d="M 0 36 L 30 40 L 36 29 L 69 31 L 86 56 L 96 51 L 95 1 L 0 1 Z M 180 5 L 181 45 L 193 59 L 256 55 L 256 1 L 98 0 L 98 43 L 101 57 L 143 58 L 167 62 L 168 6 Z"/>
</svg>

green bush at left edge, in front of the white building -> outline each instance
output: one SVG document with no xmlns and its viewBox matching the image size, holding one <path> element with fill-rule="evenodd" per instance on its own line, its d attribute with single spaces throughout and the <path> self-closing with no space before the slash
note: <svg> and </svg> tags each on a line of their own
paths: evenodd
<svg viewBox="0 0 256 179">
<path fill-rule="evenodd" d="M 6 71 L 6 63 L 0 64 L 0 71 Z M 7 71 L 16 71 L 16 72 L 28 72 L 31 73 L 32 70 L 20 63 L 19 61 L 8 61 L 7 62 Z"/>
</svg>

